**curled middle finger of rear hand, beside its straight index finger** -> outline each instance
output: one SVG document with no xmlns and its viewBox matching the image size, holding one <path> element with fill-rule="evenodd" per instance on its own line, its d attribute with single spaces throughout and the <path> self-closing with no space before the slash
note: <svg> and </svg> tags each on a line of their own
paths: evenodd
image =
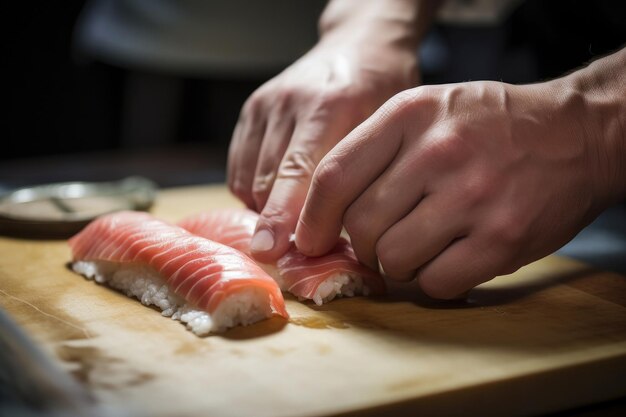
<svg viewBox="0 0 626 417">
<path fill-rule="evenodd" d="M 293 135 L 294 127 L 295 122 L 291 117 L 280 114 L 270 118 L 252 183 L 252 196 L 258 212 L 261 212 L 267 203 L 278 167 Z"/>
</svg>

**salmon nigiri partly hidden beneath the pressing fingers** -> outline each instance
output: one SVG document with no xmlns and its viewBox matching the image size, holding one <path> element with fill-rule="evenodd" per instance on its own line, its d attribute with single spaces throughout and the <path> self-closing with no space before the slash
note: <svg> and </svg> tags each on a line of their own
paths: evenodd
<svg viewBox="0 0 626 417">
<path fill-rule="evenodd" d="M 250 255 L 250 241 L 258 216 L 247 209 L 219 209 L 188 217 L 178 225 Z M 335 297 L 385 292 L 385 282 L 380 274 L 360 264 L 352 246 L 343 238 L 324 256 L 306 257 L 292 246 L 276 265 L 261 266 L 283 291 L 300 299 L 313 300 L 317 305 Z"/>
</svg>

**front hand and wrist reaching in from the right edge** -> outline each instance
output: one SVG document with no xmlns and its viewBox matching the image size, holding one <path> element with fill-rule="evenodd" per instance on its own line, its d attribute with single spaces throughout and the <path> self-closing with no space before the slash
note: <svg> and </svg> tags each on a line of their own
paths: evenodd
<svg viewBox="0 0 626 417">
<path fill-rule="evenodd" d="M 550 82 L 404 91 L 320 162 L 296 229 L 454 298 L 552 253 L 626 197 L 626 48 Z"/>
</svg>

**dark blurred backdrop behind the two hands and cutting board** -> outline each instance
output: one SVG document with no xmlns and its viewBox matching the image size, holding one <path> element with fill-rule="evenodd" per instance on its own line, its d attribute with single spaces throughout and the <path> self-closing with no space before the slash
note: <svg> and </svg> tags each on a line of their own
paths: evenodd
<svg viewBox="0 0 626 417">
<path fill-rule="evenodd" d="M 325 3 L 11 2 L 0 192 L 128 175 L 161 187 L 224 181 L 241 105 L 315 43 Z M 425 83 L 528 83 L 625 42 L 624 1 L 451 0 L 416 54 Z M 610 228 L 626 234 L 618 210 Z"/>
</svg>

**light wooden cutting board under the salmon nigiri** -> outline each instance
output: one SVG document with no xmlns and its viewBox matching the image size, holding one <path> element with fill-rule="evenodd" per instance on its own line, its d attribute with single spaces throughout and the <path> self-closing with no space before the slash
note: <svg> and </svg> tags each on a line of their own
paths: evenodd
<svg viewBox="0 0 626 417">
<path fill-rule="evenodd" d="M 238 203 L 160 194 L 176 221 Z M 414 286 L 199 338 L 66 268 L 63 241 L 0 239 L 0 304 L 104 404 L 150 416 L 528 415 L 626 394 L 626 278 L 557 257 L 437 303 Z M 392 414 L 393 413 L 393 414 Z"/>
</svg>

